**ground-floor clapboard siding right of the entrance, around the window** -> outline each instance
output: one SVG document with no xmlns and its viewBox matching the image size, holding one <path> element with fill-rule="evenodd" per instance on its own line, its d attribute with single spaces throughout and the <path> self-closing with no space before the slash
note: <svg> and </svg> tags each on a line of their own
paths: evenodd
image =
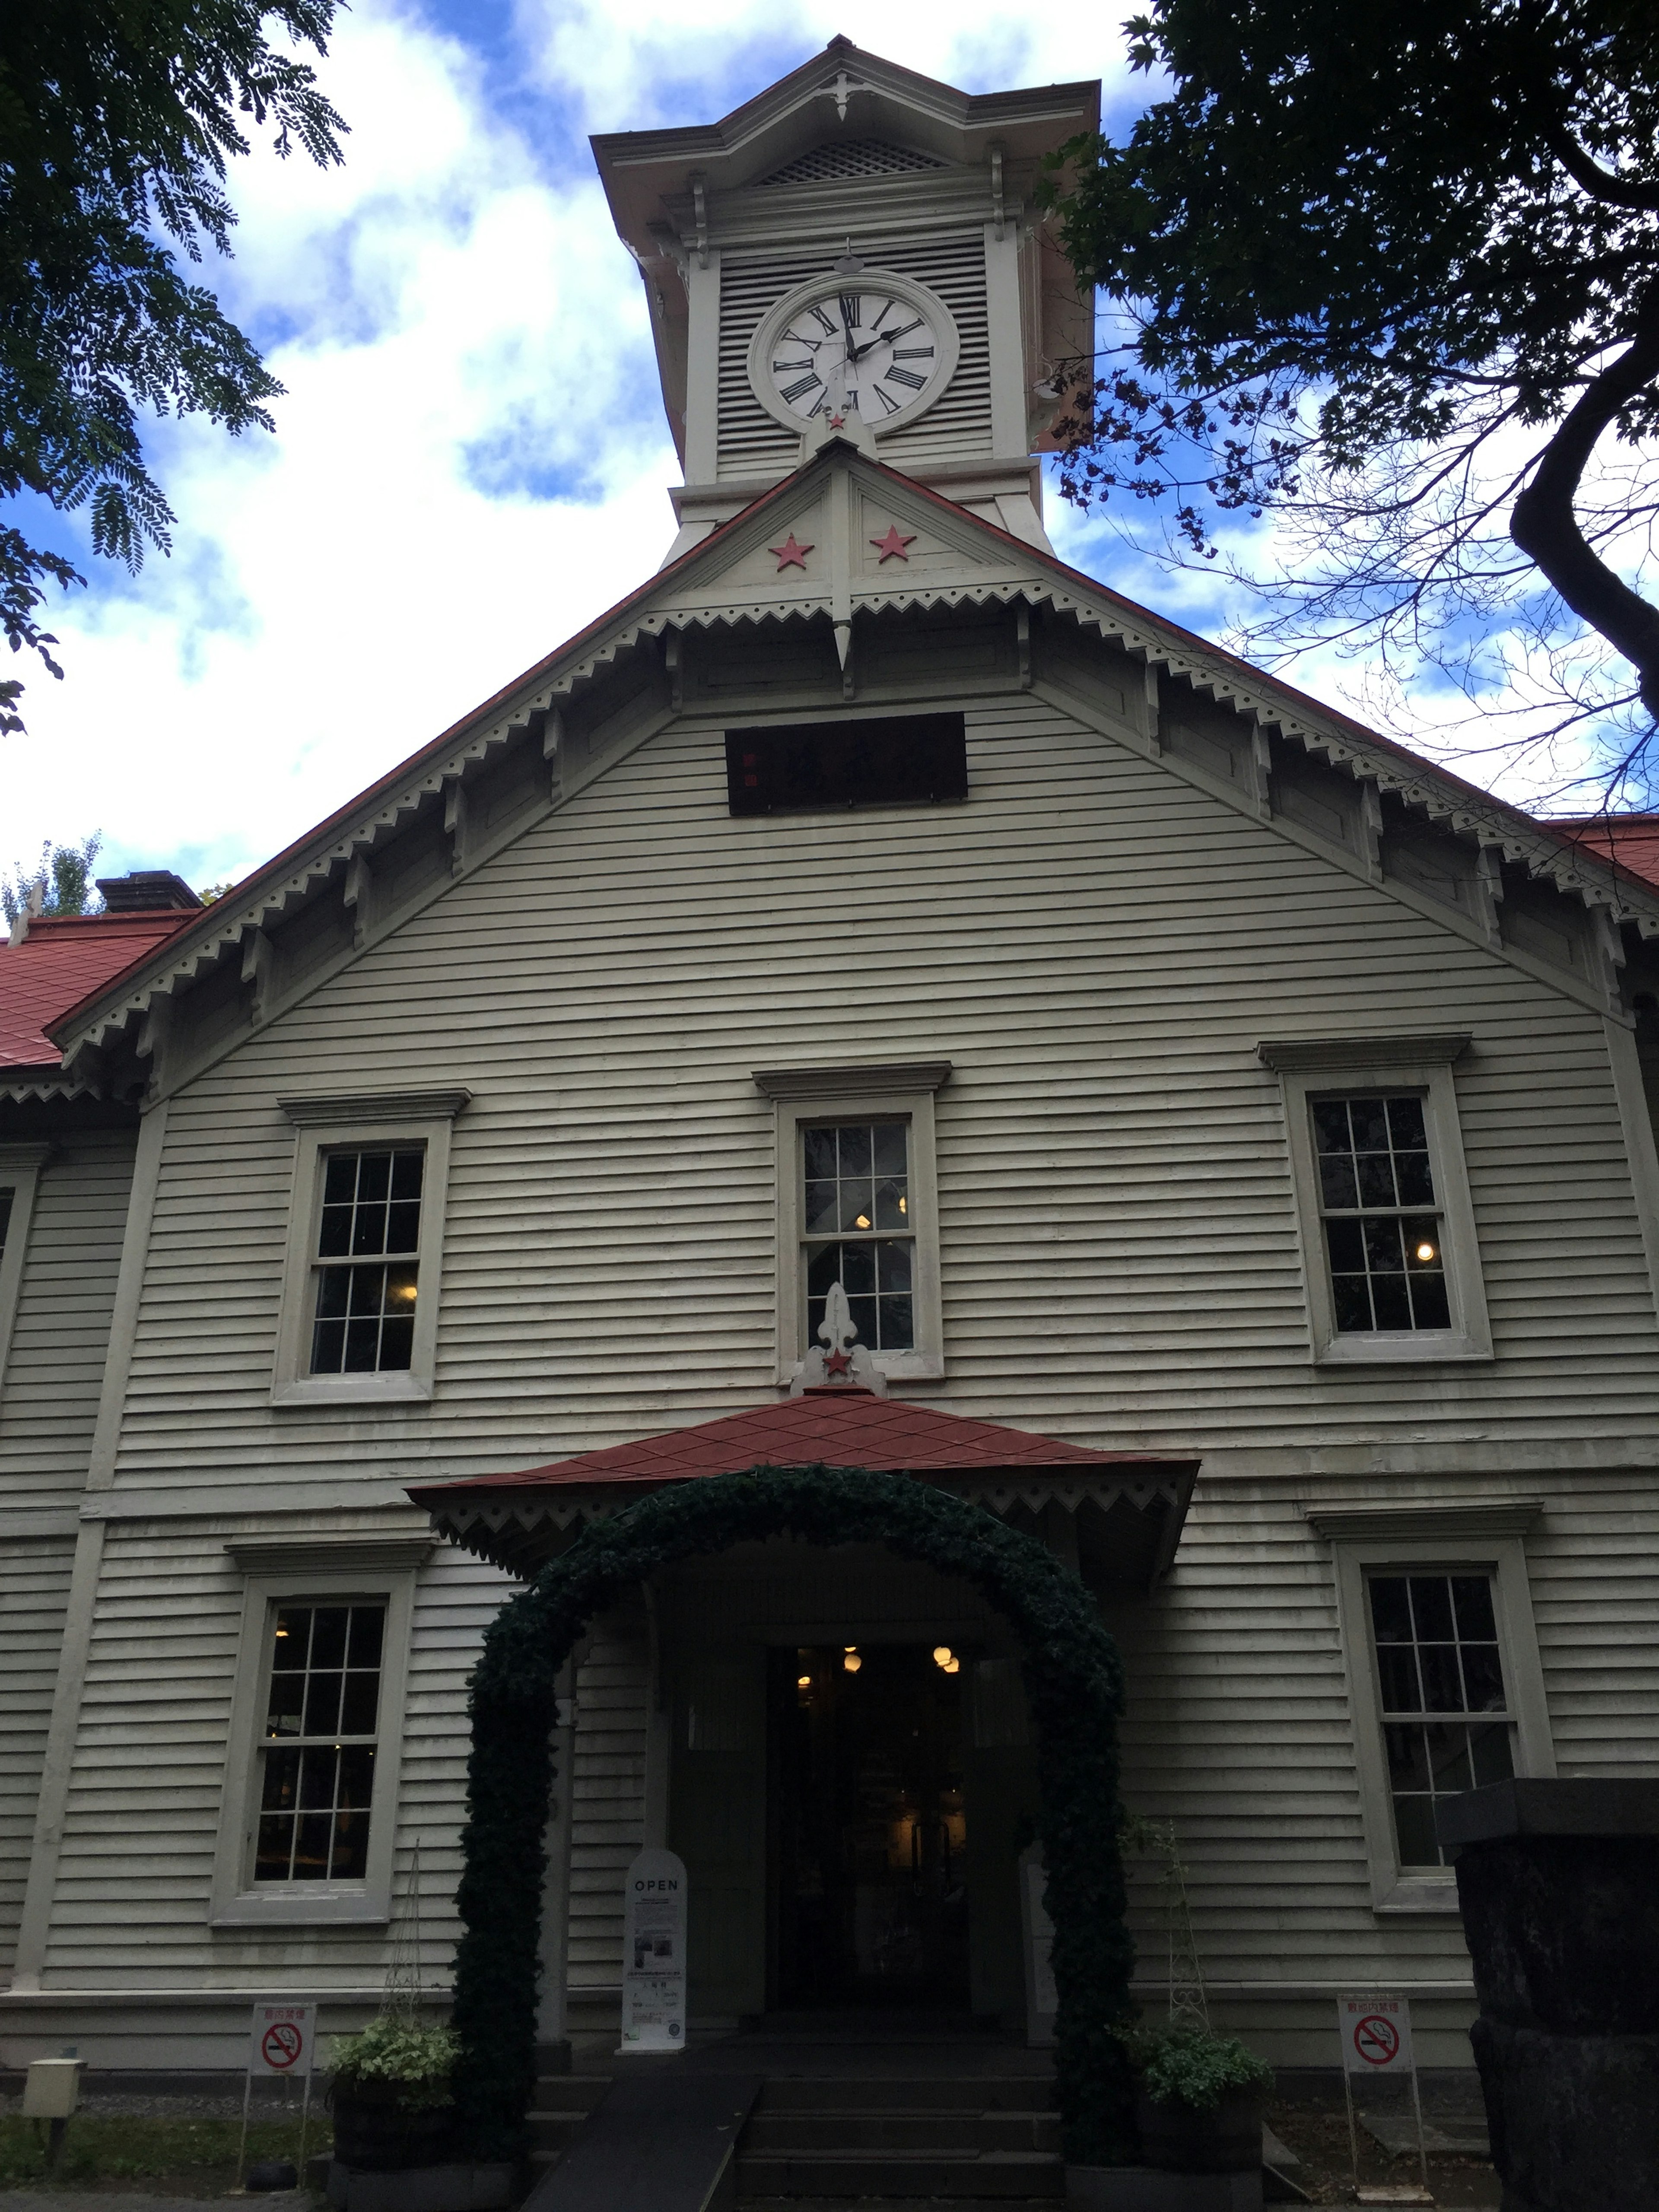
<svg viewBox="0 0 1659 2212">
<path fill-rule="evenodd" d="M 1526 1555 L 1557 1770 L 1655 1776 L 1659 1484 L 1615 1471 L 1528 1489 L 1546 1495 Z M 1500 1478 L 1458 1491 L 1515 1493 Z M 1371 1913 L 1334 1566 L 1292 1486 L 1201 1484 L 1170 1582 L 1108 1619 L 1128 1670 L 1124 1796 L 1177 1823 L 1206 1975 L 1464 1980 L 1455 1918 Z M 1133 1887 L 1157 1980 L 1152 1871 Z"/>
</svg>

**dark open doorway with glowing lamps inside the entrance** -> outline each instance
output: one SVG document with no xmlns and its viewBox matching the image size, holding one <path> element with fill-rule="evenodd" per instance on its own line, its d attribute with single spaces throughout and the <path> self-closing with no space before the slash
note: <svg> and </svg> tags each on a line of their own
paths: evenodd
<svg viewBox="0 0 1659 2212">
<path fill-rule="evenodd" d="M 964 2008 L 962 1661 L 911 1644 L 770 1659 L 774 2002 Z"/>
</svg>

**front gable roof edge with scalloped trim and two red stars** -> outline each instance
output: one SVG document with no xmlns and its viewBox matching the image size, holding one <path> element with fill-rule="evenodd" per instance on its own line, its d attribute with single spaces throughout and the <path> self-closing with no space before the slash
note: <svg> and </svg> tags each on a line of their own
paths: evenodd
<svg viewBox="0 0 1659 2212">
<path fill-rule="evenodd" d="M 836 542 L 825 542 L 834 555 L 832 571 L 765 568 L 761 551 L 794 524 L 805 524 L 814 502 L 856 495 L 878 500 L 902 518 L 907 529 L 920 522 L 953 557 L 933 566 L 907 562 L 905 573 L 896 575 L 887 562 L 867 555 L 838 529 L 832 531 Z M 146 1015 L 157 993 L 188 987 L 204 967 L 241 945 L 250 931 L 281 916 L 290 902 L 303 900 L 312 885 L 367 849 L 376 834 L 418 807 L 422 796 L 458 783 L 469 765 L 484 761 L 498 745 L 549 723 L 582 686 L 646 639 L 666 639 L 690 628 L 816 615 L 827 615 L 838 633 L 852 633 L 858 613 L 989 602 L 1042 606 L 1075 617 L 1082 628 L 1110 639 L 1148 666 L 1186 677 L 1197 690 L 1239 714 L 1376 783 L 1378 790 L 1398 794 L 1431 821 L 1498 847 L 1504 858 L 1524 865 L 1533 876 L 1590 907 L 1606 909 L 1615 920 L 1632 922 L 1641 936 L 1659 936 L 1659 887 L 1617 858 L 1604 858 L 1588 843 L 1522 814 L 1520 807 L 1464 783 L 1279 677 L 1263 675 L 1179 624 L 1137 606 L 1108 584 L 1068 568 L 1053 553 L 1011 535 L 969 507 L 872 460 L 845 438 L 830 436 L 792 476 L 772 484 L 739 515 L 641 582 L 471 714 L 376 779 L 358 799 L 257 869 L 234 894 L 204 914 L 188 916 L 164 947 L 84 991 L 46 1024 L 46 1035 L 64 1051 L 106 1042 L 128 1020 Z M 544 739 L 544 745 L 553 750 L 553 739 Z"/>
</svg>

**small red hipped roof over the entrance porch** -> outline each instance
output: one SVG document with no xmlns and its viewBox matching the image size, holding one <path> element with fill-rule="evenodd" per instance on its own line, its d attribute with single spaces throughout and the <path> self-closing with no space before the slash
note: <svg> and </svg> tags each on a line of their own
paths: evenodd
<svg viewBox="0 0 1659 2212">
<path fill-rule="evenodd" d="M 951 1473 L 998 1467 L 1197 1467 L 1197 1460 L 1150 1451 L 1091 1451 L 993 1420 L 964 1420 L 900 1398 L 830 1385 L 726 1413 L 695 1429 L 646 1436 L 637 1444 L 606 1444 L 575 1460 L 553 1460 L 515 1475 L 476 1475 L 467 1482 L 420 1482 L 416 1504 L 478 1491 L 557 1489 L 568 1482 L 686 1482 L 692 1475 L 734 1475 L 750 1467 L 869 1467 L 880 1473 Z"/>
</svg>

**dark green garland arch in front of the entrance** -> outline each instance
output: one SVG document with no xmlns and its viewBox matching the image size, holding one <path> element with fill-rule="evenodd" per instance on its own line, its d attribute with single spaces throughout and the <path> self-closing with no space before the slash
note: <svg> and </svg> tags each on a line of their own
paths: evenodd
<svg viewBox="0 0 1659 2212">
<path fill-rule="evenodd" d="M 473 1750 L 458 1909 L 458 2119 L 476 2157 L 511 2157 L 535 2090 L 538 1933 L 553 1783 L 555 1681 L 591 1619 L 679 1559 L 768 1535 L 885 1544 L 973 1584 L 1024 1646 L 1037 1732 L 1046 1905 L 1055 1924 L 1055 2086 L 1068 2159 L 1137 2152 L 1113 2026 L 1130 2013 L 1135 1947 L 1117 1849 L 1124 1666 L 1095 1606 L 1033 1537 L 909 1475 L 754 1467 L 655 1491 L 577 1542 L 495 1615 L 471 1686 Z"/>
</svg>

